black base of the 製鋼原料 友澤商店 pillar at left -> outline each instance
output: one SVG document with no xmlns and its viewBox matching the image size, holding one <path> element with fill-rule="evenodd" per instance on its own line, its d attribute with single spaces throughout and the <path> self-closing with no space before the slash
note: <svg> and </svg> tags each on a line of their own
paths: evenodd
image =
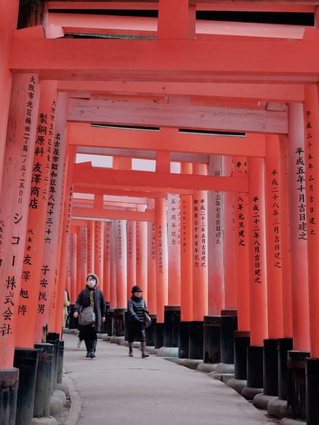
<svg viewBox="0 0 319 425">
<path fill-rule="evenodd" d="M 38 350 L 16 348 L 13 366 L 19 369 L 19 388 L 16 402 L 16 425 L 32 425 Z M 0 424 L 2 422 L 0 421 Z"/>
</svg>

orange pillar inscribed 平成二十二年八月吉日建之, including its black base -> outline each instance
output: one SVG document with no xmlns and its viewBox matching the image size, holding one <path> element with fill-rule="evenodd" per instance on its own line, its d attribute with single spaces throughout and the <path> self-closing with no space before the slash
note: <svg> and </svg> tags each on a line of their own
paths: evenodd
<svg viewBox="0 0 319 425">
<path fill-rule="evenodd" d="M 263 343 L 267 329 L 267 268 L 264 159 L 247 159 L 249 175 L 249 296 L 250 345 L 247 347 L 247 387 L 263 388 Z"/>
</svg>

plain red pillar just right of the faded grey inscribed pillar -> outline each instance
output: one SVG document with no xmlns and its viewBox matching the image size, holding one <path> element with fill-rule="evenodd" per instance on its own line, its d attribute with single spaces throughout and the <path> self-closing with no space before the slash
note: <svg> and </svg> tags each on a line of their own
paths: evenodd
<svg viewBox="0 0 319 425">
<path fill-rule="evenodd" d="M 230 177 L 233 170 L 232 156 L 222 157 L 223 176 Z M 225 310 L 237 307 L 236 254 L 235 254 L 235 199 L 234 193 L 224 192 L 224 281 Z M 234 312 L 235 313 L 235 312 Z"/>
</svg>

